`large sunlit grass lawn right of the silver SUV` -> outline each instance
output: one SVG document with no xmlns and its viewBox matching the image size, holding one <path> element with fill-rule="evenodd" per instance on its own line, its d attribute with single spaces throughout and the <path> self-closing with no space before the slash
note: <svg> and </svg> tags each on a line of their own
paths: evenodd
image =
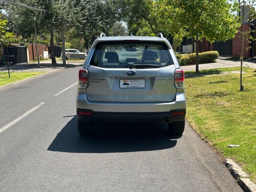
<svg viewBox="0 0 256 192">
<path fill-rule="evenodd" d="M 244 68 L 244 91 L 239 75 L 221 71 L 239 67 L 185 72 L 187 120 L 223 158 L 235 160 L 256 183 L 256 70 Z M 208 76 L 201 76 L 210 74 Z M 227 145 L 240 145 L 229 148 Z"/>
</svg>

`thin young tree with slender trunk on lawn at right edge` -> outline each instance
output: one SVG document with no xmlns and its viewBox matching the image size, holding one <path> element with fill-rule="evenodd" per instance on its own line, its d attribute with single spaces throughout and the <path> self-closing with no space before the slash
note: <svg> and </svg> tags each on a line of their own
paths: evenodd
<svg viewBox="0 0 256 192">
<path fill-rule="evenodd" d="M 254 32 L 253 30 L 251 30 L 251 28 L 247 28 L 247 30 L 245 31 L 245 23 L 247 23 L 249 21 L 249 19 L 254 19 L 255 18 L 255 0 L 238 0 L 238 6 L 241 9 L 238 9 L 240 12 L 240 19 L 241 19 L 241 23 L 242 23 L 242 30 L 239 30 L 241 32 L 241 37 L 242 37 L 242 41 L 241 41 L 241 57 L 240 57 L 240 61 L 241 61 L 241 65 L 240 65 L 240 91 L 244 91 L 244 86 L 242 85 L 242 69 L 243 69 L 243 59 L 244 59 L 244 49 L 250 49 L 251 47 L 245 47 L 244 48 L 244 41 L 248 41 L 251 42 L 251 40 L 256 40 L 253 39 L 253 37 L 251 36 L 251 32 Z M 241 10 L 241 11 L 240 11 Z M 247 15 L 249 16 L 248 18 L 246 18 L 246 12 Z M 241 14 L 242 13 L 242 14 Z"/>
</svg>

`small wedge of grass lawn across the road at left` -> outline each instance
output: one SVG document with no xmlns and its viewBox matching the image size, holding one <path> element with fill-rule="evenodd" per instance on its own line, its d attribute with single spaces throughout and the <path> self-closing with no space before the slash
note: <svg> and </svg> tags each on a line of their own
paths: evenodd
<svg viewBox="0 0 256 192">
<path fill-rule="evenodd" d="M 8 83 L 13 83 L 15 81 L 20 81 L 22 79 L 42 73 L 46 72 L 11 72 L 9 78 L 8 72 L 0 72 L 0 86 L 6 85 Z"/>
</svg>

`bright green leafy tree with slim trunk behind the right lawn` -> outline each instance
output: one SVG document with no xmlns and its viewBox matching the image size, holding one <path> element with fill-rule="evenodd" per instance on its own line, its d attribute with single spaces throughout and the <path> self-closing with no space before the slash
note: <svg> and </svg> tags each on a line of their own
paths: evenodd
<svg viewBox="0 0 256 192">
<path fill-rule="evenodd" d="M 235 7 L 226 0 L 158 0 L 155 4 L 158 20 L 164 21 L 169 33 L 185 29 L 196 41 L 196 72 L 198 69 L 198 41 L 210 42 L 231 39 L 237 33 Z M 163 28 L 163 27 L 162 27 Z"/>
</svg>

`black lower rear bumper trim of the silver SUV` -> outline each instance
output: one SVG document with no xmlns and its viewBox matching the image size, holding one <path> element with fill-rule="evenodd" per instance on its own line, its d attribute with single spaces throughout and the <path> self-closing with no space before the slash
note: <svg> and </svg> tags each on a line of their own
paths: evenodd
<svg viewBox="0 0 256 192">
<path fill-rule="evenodd" d="M 91 113 L 91 115 L 81 115 L 82 113 Z M 182 113 L 183 115 L 171 115 L 172 113 Z M 116 112 L 99 112 L 89 109 L 76 109 L 77 119 L 79 121 L 89 121 L 95 123 L 153 123 L 164 122 L 165 118 L 169 118 L 171 122 L 184 121 L 186 109 L 175 109 L 167 112 L 147 112 L 147 113 L 116 113 Z"/>
</svg>

